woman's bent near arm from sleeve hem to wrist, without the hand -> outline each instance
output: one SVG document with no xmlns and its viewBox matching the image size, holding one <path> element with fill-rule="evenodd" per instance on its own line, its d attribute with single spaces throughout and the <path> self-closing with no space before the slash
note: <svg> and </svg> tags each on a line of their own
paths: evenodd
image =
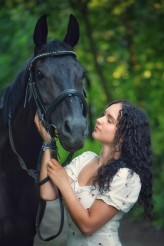
<svg viewBox="0 0 164 246">
<path fill-rule="evenodd" d="M 118 212 L 115 207 L 102 200 L 96 200 L 91 208 L 86 210 L 69 185 L 62 186 L 60 191 L 73 221 L 85 236 L 92 235 Z"/>
</svg>

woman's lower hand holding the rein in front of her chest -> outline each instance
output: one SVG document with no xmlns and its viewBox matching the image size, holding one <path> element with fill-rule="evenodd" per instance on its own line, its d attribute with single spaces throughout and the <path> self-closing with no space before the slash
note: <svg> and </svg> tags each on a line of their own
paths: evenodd
<svg viewBox="0 0 164 246">
<path fill-rule="evenodd" d="M 55 159 L 51 159 L 48 162 L 47 174 L 50 177 L 51 182 L 59 189 L 60 187 L 69 184 L 67 172 Z"/>
</svg>

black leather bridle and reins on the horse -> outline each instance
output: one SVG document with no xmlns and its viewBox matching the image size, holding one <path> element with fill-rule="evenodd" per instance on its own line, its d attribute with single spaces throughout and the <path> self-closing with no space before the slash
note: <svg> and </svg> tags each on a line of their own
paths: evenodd
<svg viewBox="0 0 164 246">
<path fill-rule="evenodd" d="M 29 66 L 29 80 L 28 80 L 28 84 L 26 87 L 26 93 L 25 93 L 25 101 L 24 101 L 24 107 L 26 107 L 27 102 L 29 102 L 31 100 L 31 98 L 34 99 L 35 104 L 36 104 L 36 111 L 39 115 L 40 120 L 42 121 L 45 129 L 49 132 L 50 129 L 53 127 L 54 128 L 54 132 L 55 132 L 55 136 L 54 136 L 54 140 L 52 140 L 52 155 L 54 155 L 53 157 L 57 159 L 57 146 L 56 146 L 56 140 L 58 138 L 58 130 L 56 128 L 56 126 L 52 123 L 52 122 L 48 122 L 48 118 L 49 115 L 51 113 L 51 111 L 58 106 L 58 104 L 64 100 L 66 97 L 72 97 L 72 96 L 77 96 L 79 97 L 79 99 L 82 102 L 83 105 L 83 115 L 84 117 L 86 117 L 86 112 L 87 112 L 87 105 L 86 105 L 86 100 L 84 95 L 86 95 L 85 91 L 84 91 L 84 95 L 80 92 L 78 92 L 75 89 L 66 89 L 64 90 L 57 98 L 55 98 L 53 100 L 53 102 L 49 105 L 49 107 L 47 109 L 45 109 L 42 100 L 40 98 L 40 95 L 38 94 L 38 90 L 37 90 L 37 86 L 36 83 L 33 79 L 33 73 L 32 73 L 32 67 L 33 64 L 44 57 L 54 57 L 54 56 L 66 56 L 66 55 L 71 55 L 76 57 L 76 53 L 73 51 L 56 51 L 56 52 L 47 52 L 47 53 L 43 53 L 40 54 L 38 56 L 35 56 L 33 58 L 33 60 L 30 63 Z M 36 170 L 33 169 L 28 169 L 26 166 L 26 163 L 24 162 L 24 160 L 22 159 L 22 157 L 18 154 L 18 152 L 16 151 L 15 145 L 14 145 L 14 140 L 13 140 L 13 134 L 12 134 L 12 127 L 11 127 L 11 121 L 12 121 L 13 117 L 12 117 L 12 112 L 11 112 L 11 108 L 9 111 L 9 119 L 8 119 L 8 125 L 9 125 L 9 140 L 10 140 L 10 145 L 11 148 L 13 150 L 13 152 L 15 153 L 15 155 L 17 156 L 20 166 L 21 168 L 27 172 L 27 174 L 29 176 L 31 176 L 32 178 L 34 178 L 35 182 L 39 185 L 42 185 L 44 183 L 46 183 L 49 180 L 49 177 L 45 178 L 44 180 L 39 182 L 39 173 L 40 173 L 40 166 L 41 166 L 41 157 L 42 157 L 42 150 L 40 151 L 40 155 L 39 155 L 39 161 L 37 164 L 37 168 Z M 65 160 L 65 162 L 63 163 L 63 166 L 65 166 L 66 164 L 68 164 L 73 156 L 74 152 L 70 152 L 67 159 Z M 58 232 L 54 235 L 54 236 L 50 236 L 48 238 L 43 238 L 40 230 L 39 230 L 39 226 L 40 226 L 40 214 L 43 212 L 44 214 L 44 205 L 45 205 L 45 201 L 43 201 L 42 199 L 40 199 L 39 202 L 39 207 L 38 207 L 38 211 L 37 211 L 37 216 L 36 216 L 36 231 L 37 234 L 39 236 L 39 238 L 43 241 L 50 241 L 54 238 L 56 238 L 57 236 L 60 235 L 62 229 L 63 229 L 63 225 L 64 225 L 64 206 L 63 206 L 63 201 L 62 201 L 62 195 L 60 193 L 60 191 L 58 190 L 58 194 L 59 194 L 59 204 L 60 204 L 60 210 L 61 210 L 61 219 L 60 219 L 60 226 L 59 226 L 59 230 Z"/>
</svg>

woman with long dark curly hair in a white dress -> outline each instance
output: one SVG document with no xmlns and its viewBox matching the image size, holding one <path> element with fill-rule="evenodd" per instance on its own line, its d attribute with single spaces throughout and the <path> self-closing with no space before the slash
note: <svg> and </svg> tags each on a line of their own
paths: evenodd
<svg viewBox="0 0 164 246">
<path fill-rule="evenodd" d="M 96 121 L 93 138 L 102 144 L 99 156 L 85 152 L 66 168 L 51 159 L 51 145 L 38 116 L 35 123 L 44 144 L 40 180 L 42 199 L 62 193 L 68 212 L 68 246 L 120 246 L 119 220 L 133 205 L 151 215 L 152 174 L 149 123 L 145 113 L 127 101 L 111 103 Z"/>
</svg>

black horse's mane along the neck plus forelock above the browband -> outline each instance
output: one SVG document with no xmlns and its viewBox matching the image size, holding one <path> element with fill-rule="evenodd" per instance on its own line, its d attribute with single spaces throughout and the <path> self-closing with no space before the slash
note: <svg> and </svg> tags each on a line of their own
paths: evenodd
<svg viewBox="0 0 164 246">
<path fill-rule="evenodd" d="M 37 55 L 60 50 L 72 50 L 71 46 L 59 40 L 53 40 L 38 49 Z M 4 124 L 8 124 L 9 113 L 14 117 L 18 105 L 25 98 L 26 85 L 29 77 L 29 65 L 32 58 L 22 71 L 19 72 L 16 79 L 0 93 L 0 109 L 3 111 Z"/>
</svg>

